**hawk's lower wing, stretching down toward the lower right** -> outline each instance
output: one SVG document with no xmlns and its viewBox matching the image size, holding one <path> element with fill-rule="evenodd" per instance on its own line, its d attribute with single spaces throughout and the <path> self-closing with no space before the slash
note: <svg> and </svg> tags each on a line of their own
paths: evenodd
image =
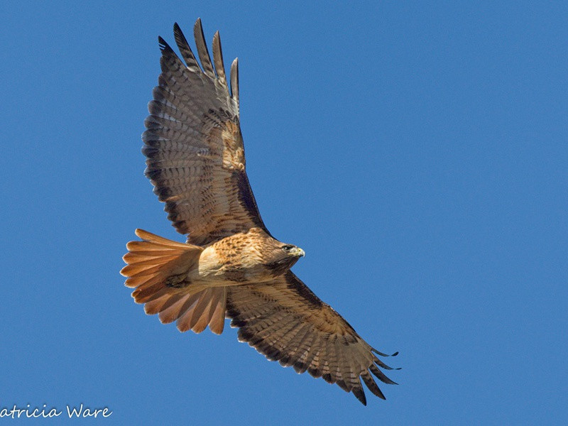
<svg viewBox="0 0 568 426">
<path fill-rule="evenodd" d="M 271 361 L 337 383 L 364 405 L 361 379 L 383 399 L 371 373 L 383 383 L 395 384 L 378 368 L 392 369 L 376 356 L 386 354 L 369 346 L 291 271 L 270 283 L 230 287 L 226 304 L 231 327 L 240 328 L 239 340 Z"/>
</svg>

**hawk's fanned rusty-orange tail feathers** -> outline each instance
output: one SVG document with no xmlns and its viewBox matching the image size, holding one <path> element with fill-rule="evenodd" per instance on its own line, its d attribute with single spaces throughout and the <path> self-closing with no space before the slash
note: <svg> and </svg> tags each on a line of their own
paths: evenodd
<svg viewBox="0 0 568 426">
<path fill-rule="evenodd" d="M 226 288 L 191 283 L 173 288 L 165 284 L 170 276 L 184 276 L 197 268 L 202 248 L 171 241 L 142 229 L 136 229 L 136 235 L 143 241 L 126 244 L 129 253 L 123 259 L 127 265 L 121 270 L 121 274 L 128 277 L 126 286 L 135 289 L 132 293 L 135 302 L 144 303 L 148 315 L 158 314 L 160 322 L 177 321 L 180 332 L 192 329 L 200 333 L 209 324 L 212 332 L 221 334 Z"/>
</svg>

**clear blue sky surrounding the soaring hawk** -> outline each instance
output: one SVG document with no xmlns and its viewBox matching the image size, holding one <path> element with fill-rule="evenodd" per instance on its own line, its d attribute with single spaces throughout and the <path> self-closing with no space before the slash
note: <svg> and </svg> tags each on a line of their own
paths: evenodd
<svg viewBox="0 0 568 426">
<path fill-rule="evenodd" d="M 0 6 L 1 407 L 107 406 L 107 425 L 568 422 L 565 2 L 78 3 Z M 140 135 L 158 35 L 197 17 L 239 56 L 268 229 L 362 337 L 400 351 L 386 401 L 229 327 L 180 334 L 124 287 L 136 227 L 183 240 Z"/>
</svg>

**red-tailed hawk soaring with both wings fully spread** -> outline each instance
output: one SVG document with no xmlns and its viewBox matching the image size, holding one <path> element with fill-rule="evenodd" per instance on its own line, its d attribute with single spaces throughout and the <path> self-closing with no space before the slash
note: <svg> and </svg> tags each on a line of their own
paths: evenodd
<svg viewBox="0 0 568 426">
<path fill-rule="evenodd" d="M 148 104 L 143 153 L 146 176 L 168 219 L 187 243 L 141 229 L 142 241 L 126 245 L 121 273 L 149 315 L 176 322 L 180 332 L 221 334 L 225 317 L 271 361 L 337 383 L 366 404 L 361 379 L 385 398 L 371 373 L 394 383 L 391 369 L 332 307 L 290 267 L 302 249 L 271 236 L 246 177 L 239 126 L 239 68 L 231 65 L 230 89 L 219 32 L 213 60 L 201 21 L 194 27 L 201 67 L 176 23 L 175 42 L 185 63 L 158 38 L 162 73 Z"/>
</svg>

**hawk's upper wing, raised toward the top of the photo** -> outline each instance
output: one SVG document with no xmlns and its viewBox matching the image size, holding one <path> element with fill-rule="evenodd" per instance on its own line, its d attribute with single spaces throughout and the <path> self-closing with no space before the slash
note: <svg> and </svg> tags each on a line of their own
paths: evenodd
<svg viewBox="0 0 568 426">
<path fill-rule="evenodd" d="M 142 135 L 146 176 L 165 202 L 168 219 L 178 232 L 189 234 L 192 244 L 254 226 L 266 230 L 246 177 L 237 60 L 231 65 L 229 92 L 219 32 L 212 62 L 197 19 L 194 35 L 202 68 L 177 23 L 174 35 L 185 64 L 158 38 L 162 73 Z"/>
</svg>

